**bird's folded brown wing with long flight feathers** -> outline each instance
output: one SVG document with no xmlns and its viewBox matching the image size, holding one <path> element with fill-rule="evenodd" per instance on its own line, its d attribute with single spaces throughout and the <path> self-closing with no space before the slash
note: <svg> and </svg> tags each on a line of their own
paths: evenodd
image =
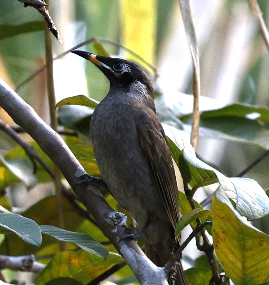
<svg viewBox="0 0 269 285">
<path fill-rule="evenodd" d="M 175 228 L 179 222 L 179 198 L 174 166 L 159 118 L 154 111 L 145 108 L 145 112 L 137 118 L 138 136 L 166 212 Z"/>
</svg>

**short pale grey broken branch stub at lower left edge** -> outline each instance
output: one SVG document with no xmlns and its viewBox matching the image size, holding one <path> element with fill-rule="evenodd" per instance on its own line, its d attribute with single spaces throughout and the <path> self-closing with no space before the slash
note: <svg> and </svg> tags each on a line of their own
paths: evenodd
<svg viewBox="0 0 269 285">
<path fill-rule="evenodd" d="M 12 270 L 40 273 L 46 265 L 35 261 L 34 254 L 22 256 L 0 255 L 0 269 L 9 268 Z"/>
</svg>

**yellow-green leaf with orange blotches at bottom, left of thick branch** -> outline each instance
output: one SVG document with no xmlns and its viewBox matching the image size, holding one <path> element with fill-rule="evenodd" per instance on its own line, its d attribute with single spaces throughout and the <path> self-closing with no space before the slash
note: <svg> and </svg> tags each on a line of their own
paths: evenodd
<svg viewBox="0 0 269 285">
<path fill-rule="evenodd" d="M 59 252 L 39 274 L 35 284 L 44 285 L 58 277 L 69 277 L 87 284 L 121 262 L 123 262 L 123 258 L 117 253 L 110 253 L 108 258 L 104 260 L 84 250 Z"/>
</svg>

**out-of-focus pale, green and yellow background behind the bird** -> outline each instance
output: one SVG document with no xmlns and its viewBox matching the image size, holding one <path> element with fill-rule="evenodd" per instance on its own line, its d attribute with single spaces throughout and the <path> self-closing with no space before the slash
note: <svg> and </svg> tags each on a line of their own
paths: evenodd
<svg viewBox="0 0 269 285">
<path fill-rule="evenodd" d="M 268 27 L 269 2 L 258 3 Z M 229 113 L 201 118 L 198 157 L 228 177 L 234 177 L 269 146 L 268 50 L 247 0 L 195 0 L 192 4 L 201 67 L 200 110 L 218 109 L 234 103 L 260 106 L 253 107 L 247 115 L 238 106 Z M 45 72 L 23 83 L 45 64 L 44 31 L 38 24 L 43 16 L 31 7 L 23 8 L 16 0 L 0 0 L 0 7 L 0 77 L 49 123 Z M 61 46 L 52 39 L 55 57 L 95 37 L 110 55 L 142 64 L 158 91 L 159 117 L 181 129 L 183 136 L 189 138 L 193 103 L 188 94 L 192 94 L 193 71 L 178 1 L 51 0 L 49 12 L 63 40 Z M 23 28 L 28 22 L 33 22 L 34 32 L 26 32 Z M 16 26 L 17 31 L 21 27 L 21 32 L 13 35 L 12 26 Z M 148 64 L 125 48 L 99 37 L 137 53 L 156 68 L 157 76 Z M 82 49 L 98 52 L 93 43 Z M 70 53 L 54 61 L 54 82 L 57 102 L 79 94 L 100 101 L 109 89 L 105 76 L 95 66 Z M 63 110 L 66 112 L 67 109 Z M 83 107 L 72 109 L 70 106 L 68 110 L 70 116 L 80 119 L 89 115 L 88 109 Z M 261 112 L 264 116 L 259 120 Z M 2 110 L 0 117 L 11 123 Z M 61 110 L 59 118 L 68 125 L 66 120 L 69 119 Z M 12 147 L 14 145 L 3 140 L 1 155 Z M 266 158 L 245 177 L 268 188 L 268 165 Z M 200 196 L 195 198 L 202 201 L 206 195 L 202 190 L 198 192 Z M 17 207 L 28 207 L 40 199 L 40 193 L 34 191 L 21 193 L 25 197 L 30 195 L 27 199 L 22 199 L 24 196 L 18 193 L 21 192 L 12 196 L 17 199 Z M 259 223 L 259 227 L 269 233 L 266 218 Z M 186 252 L 192 258 L 197 254 L 191 249 Z"/>
</svg>

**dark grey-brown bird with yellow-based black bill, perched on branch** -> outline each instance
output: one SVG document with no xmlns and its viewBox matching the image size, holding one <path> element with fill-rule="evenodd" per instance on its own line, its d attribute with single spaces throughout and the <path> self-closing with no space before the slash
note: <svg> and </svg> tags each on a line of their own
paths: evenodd
<svg viewBox="0 0 269 285">
<path fill-rule="evenodd" d="M 96 162 L 110 193 L 142 229 L 146 255 L 163 267 L 180 245 L 174 237 L 179 198 L 152 83 L 127 60 L 72 52 L 93 62 L 110 81 L 90 121 Z M 175 284 L 186 284 L 181 264 Z"/>
</svg>

